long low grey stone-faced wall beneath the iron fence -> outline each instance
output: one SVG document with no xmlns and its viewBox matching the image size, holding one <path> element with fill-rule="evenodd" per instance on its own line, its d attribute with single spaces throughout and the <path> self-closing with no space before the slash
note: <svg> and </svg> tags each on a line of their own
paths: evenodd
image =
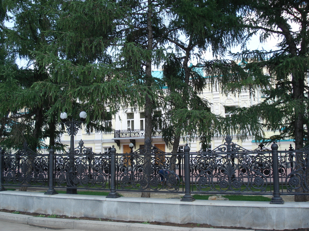
<svg viewBox="0 0 309 231">
<path fill-rule="evenodd" d="M 123 221 L 188 222 L 252 229 L 309 228 L 309 202 L 182 202 L 177 199 L 0 192 L 0 209 Z"/>
</svg>

